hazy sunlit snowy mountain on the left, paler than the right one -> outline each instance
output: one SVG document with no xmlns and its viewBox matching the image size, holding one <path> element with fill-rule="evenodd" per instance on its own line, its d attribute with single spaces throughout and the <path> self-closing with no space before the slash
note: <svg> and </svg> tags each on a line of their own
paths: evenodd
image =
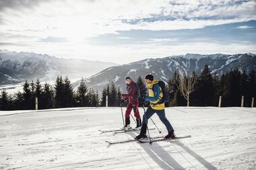
<svg viewBox="0 0 256 170">
<path fill-rule="evenodd" d="M 0 50 L 0 85 L 32 79 L 52 81 L 57 75 L 81 79 L 115 65 L 110 62 L 57 58 L 34 52 Z"/>
</svg>

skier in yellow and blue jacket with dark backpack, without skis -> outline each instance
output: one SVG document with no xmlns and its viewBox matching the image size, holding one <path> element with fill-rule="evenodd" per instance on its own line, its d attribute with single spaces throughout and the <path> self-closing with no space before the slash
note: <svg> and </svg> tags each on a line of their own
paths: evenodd
<svg viewBox="0 0 256 170">
<path fill-rule="evenodd" d="M 167 120 L 165 116 L 165 110 L 164 110 L 164 103 L 158 103 L 160 99 L 163 96 L 162 89 L 158 85 L 158 81 L 154 80 L 153 75 L 146 75 L 145 77 L 145 83 L 149 89 L 148 96 L 141 96 L 143 100 L 150 101 L 150 106 L 146 110 L 145 114 L 143 115 L 143 121 L 141 126 L 141 131 L 138 136 L 135 137 L 135 139 L 141 139 L 146 138 L 146 131 L 147 131 L 147 125 L 148 125 L 148 119 L 153 116 L 153 114 L 157 114 L 162 123 L 166 126 L 166 129 L 168 131 L 168 134 L 164 138 L 174 138 L 174 130 L 172 128 L 172 125 Z"/>
</svg>

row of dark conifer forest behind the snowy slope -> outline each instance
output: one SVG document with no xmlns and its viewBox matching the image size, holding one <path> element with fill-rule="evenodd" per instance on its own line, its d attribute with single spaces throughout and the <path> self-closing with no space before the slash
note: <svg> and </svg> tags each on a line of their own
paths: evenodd
<svg viewBox="0 0 256 170">
<path fill-rule="evenodd" d="M 191 81 L 192 80 L 192 81 Z M 193 83 L 188 96 L 185 96 L 184 87 L 189 87 Z M 124 82 L 125 83 L 125 82 Z M 141 95 L 146 95 L 148 89 L 143 78 L 139 76 L 136 81 L 140 88 Z M 228 73 L 220 76 L 211 74 L 208 65 L 201 71 L 201 75 L 187 75 L 180 77 L 178 73 L 168 80 L 166 90 L 170 97 L 170 102 L 165 103 L 166 107 L 173 106 L 218 106 L 220 96 L 222 96 L 222 107 L 241 107 L 241 99 L 244 97 L 244 106 L 251 107 L 252 98 L 256 97 L 256 73 L 254 70 L 249 74 L 239 69 L 232 69 Z M 187 90 L 187 89 L 185 89 Z M 72 107 L 105 107 L 106 95 L 108 95 L 109 107 L 125 106 L 118 93 L 119 87 L 115 83 L 108 84 L 101 95 L 92 88 L 86 86 L 86 81 L 82 79 L 74 91 L 68 77 L 58 76 L 55 85 L 49 83 L 43 85 L 39 80 L 23 85 L 23 92 L 8 95 L 5 90 L 0 93 L 0 110 L 35 110 L 36 97 L 38 98 L 38 109 L 51 108 L 72 108 Z M 121 101 L 121 102 L 120 102 Z M 142 103 L 140 103 L 141 105 Z M 255 107 L 255 101 L 253 103 Z"/>
</svg>

